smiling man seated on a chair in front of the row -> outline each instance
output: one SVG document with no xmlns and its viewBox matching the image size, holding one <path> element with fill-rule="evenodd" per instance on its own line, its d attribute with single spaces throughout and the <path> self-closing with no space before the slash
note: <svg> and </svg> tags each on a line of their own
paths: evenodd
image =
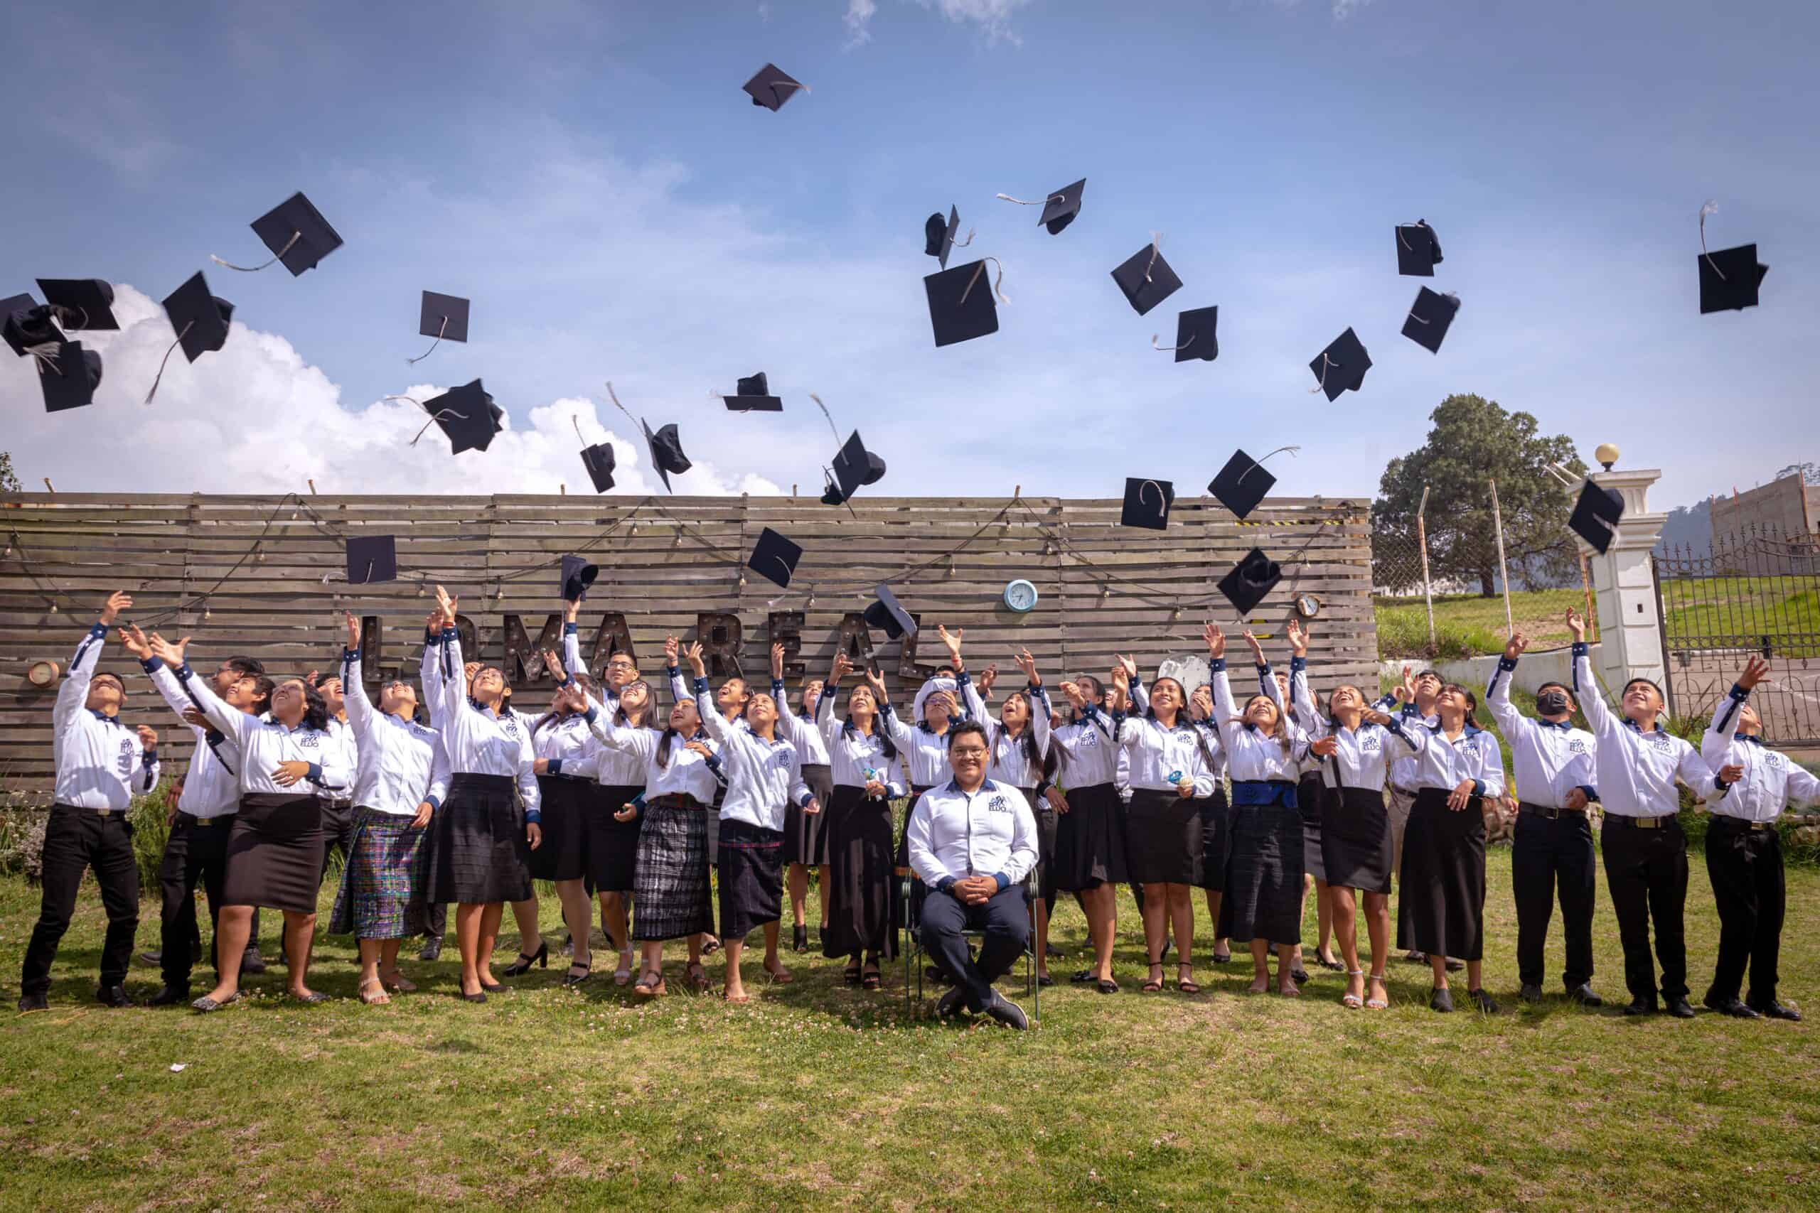
<svg viewBox="0 0 1820 1213">
<path fill-rule="evenodd" d="M 1008 1028 L 1025 1029 L 1023 1009 L 992 989 L 1023 955 L 1030 909 L 1023 878 L 1036 867 L 1036 817 L 1016 787 L 986 778 L 988 742 L 977 720 L 948 729 L 954 778 L 925 791 L 910 809 L 910 867 L 928 886 L 923 902 L 923 947 L 959 984 L 941 997 L 935 1015 L 965 1002 Z M 965 929 L 985 931 L 979 958 L 966 955 Z"/>
</svg>

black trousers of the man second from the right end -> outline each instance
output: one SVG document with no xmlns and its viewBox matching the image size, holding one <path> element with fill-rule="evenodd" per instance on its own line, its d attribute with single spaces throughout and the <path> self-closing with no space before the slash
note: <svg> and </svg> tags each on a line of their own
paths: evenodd
<svg viewBox="0 0 1820 1213">
<path fill-rule="evenodd" d="M 1649 960 L 1649 927 L 1656 927 L 1656 960 L 1662 962 L 1662 997 L 1687 997 L 1687 938 L 1682 909 L 1687 904 L 1687 835 L 1673 817 L 1645 818 L 1658 826 L 1640 829 L 1636 818 L 1605 815 L 1605 884 L 1618 915 L 1623 942 L 1623 984 L 1633 998 L 1656 997 L 1656 966 Z"/>
</svg>

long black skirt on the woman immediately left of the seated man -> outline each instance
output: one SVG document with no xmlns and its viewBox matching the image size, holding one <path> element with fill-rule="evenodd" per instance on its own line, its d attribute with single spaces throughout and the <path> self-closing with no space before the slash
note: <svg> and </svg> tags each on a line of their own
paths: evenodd
<svg viewBox="0 0 1820 1213">
<path fill-rule="evenodd" d="M 897 955 L 897 877 L 892 853 L 892 802 L 872 800 L 864 787 L 834 789 L 824 829 L 828 831 L 828 926 L 821 955 L 830 958 L 875 953 Z"/>
</svg>

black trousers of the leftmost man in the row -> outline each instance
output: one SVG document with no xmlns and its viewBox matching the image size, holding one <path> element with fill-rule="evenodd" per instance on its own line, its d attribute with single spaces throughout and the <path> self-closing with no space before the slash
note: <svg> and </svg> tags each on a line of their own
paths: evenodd
<svg viewBox="0 0 1820 1213">
<path fill-rule="evenodd" d="M 51 806 L 44 824 L 44 906 L 38 924 L 25 946 L 25 964 L 20 971 L 22 995 L 42 995 L 51 989 L 51 962 L 56 946 L 69 929 L 76 911 L 76 889 L 82 873 L 93 869 L 102 886 L 102 906 L 107 909 L 107 937 L 102 940 L 100 987 L 126 982 L 126 966 L 133 958 L 133 933 L 138 931 L 138 864 L 133 860 L 133 827 L 126 813 L 96 813 L 73 804 Z M 187 942 L 184 944 L 187 947 Z"/>
</svg>

